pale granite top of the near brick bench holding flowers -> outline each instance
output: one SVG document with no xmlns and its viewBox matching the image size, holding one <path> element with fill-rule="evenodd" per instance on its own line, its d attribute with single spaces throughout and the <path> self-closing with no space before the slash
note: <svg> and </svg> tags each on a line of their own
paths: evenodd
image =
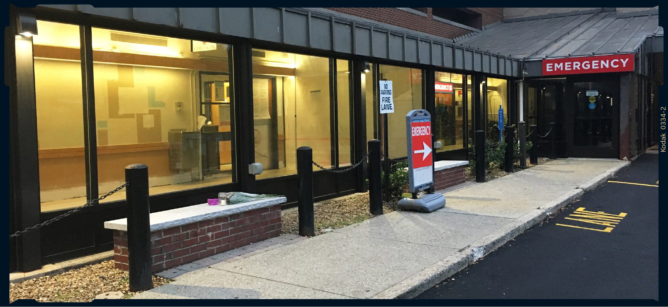
<svg viewBox="0 0 668 307">
<path fill-rule="evenodd" d="M 243 202 L 236 205 L 209 206 L 208 204 L 198 204 L 194 206 L 153 212 L 149 215 L 151 224 L 150 230 L 151 232 L 154 232 L 156 230 L 174 226 L 181 226 L 203 220 L 210 220 L 220 216 L 229 216 L 230 214 L 283 204 L 285 202 L 287 202 L 287 198 L 276 197 L 265 198 L 263 200 L 253 200 L 251 202 Z M 104 222 L 104 228 L 128 231 L 128 219 L 121 218 L 118 220 Z"/>
</svg>

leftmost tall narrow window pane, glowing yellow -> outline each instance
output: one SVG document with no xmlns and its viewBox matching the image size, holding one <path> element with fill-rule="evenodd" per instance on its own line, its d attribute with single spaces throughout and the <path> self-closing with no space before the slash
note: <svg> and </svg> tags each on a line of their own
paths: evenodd
<svg viewBox="0 0 668 307">
<path fill-rule="evenodd" d="M 37 21 L 33 36 L 41 211 L 86 204 L 79 26 Z"/>
</svg>

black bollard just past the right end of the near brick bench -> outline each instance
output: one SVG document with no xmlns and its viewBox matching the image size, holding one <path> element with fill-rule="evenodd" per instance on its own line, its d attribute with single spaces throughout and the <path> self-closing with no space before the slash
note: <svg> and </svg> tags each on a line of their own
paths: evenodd
<svg viewBox="0 0 668 307">
<path fill-rule="evenodd" d="M 297 148 L 297 176 L 299 176 L 299 236 L 315 236 L 313 218 L 313 150 L 311 147 Z"/>
</svg>

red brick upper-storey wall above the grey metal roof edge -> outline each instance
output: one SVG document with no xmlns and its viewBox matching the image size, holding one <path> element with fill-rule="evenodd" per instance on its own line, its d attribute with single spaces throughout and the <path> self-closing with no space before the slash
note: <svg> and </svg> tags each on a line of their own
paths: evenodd
<svg viewBox="0 0 668 307">
<path fill-rule="evenodd" d="M 387 23 L 389 25 L 395 25 L 397 27 L 403 27 L 405 29 L 420 31 L 446 38 L 454 38 L 471 32 L 469 29 L 463 29 L 456 27 L 455 25 L 450 25 L 449 23 L 444 23 L 442 21 L 433 19 L 431 7 L 420 7 L 420 11 L 427 14 L 426 17 L 408 11 L 403 11 L 402 9 L 397 9 L 395 7 L 325 8 L 331 9 L 332 11 L 337 11 L 339 13 L 371 19 L 373 21 L 379 21 L 381 23 Z M 468 9 L 482 14 L 482 16 L 478 18 L 479 20 L 475 20 L 472 23 L 478 29 L 482 29 L 482 26 L 484 25 L 488 25 L 503 19 L 502 7 L 468 7 Z"/>
</svg>

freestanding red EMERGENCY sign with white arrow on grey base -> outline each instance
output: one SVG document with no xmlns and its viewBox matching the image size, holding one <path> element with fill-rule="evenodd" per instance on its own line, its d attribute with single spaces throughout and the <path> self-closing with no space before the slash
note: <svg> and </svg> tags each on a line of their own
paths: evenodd
<svg viewBox="0 0 668 307">
<path fill-rule="evenodd" d="M 446 205 L 443 194 L 425 194 L 420 190 L 434 184 L 434 154 L 432 149 L 432 115 L 427 110 L 411 110 L 406 114 L 406 148 L 408 158 L 408 190 L 411 198 L 399 200 L 402 210 L 432 212 Z"/>
</svg>

